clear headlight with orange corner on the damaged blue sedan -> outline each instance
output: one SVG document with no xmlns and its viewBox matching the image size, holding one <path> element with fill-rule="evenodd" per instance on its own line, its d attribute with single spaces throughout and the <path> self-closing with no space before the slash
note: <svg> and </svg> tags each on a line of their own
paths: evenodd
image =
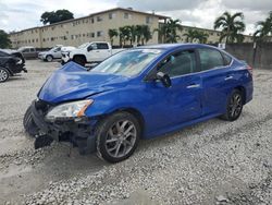
<svg viewBox="0 0 272 205">
<path fill-rule="evenodd" d="M 62 104 L 50 110 L 47 116 L 47 121 L 55 120 L 78 120 L 85 116 L 85 110 L 94 102 L 91 99 Z"/>
</svg>

